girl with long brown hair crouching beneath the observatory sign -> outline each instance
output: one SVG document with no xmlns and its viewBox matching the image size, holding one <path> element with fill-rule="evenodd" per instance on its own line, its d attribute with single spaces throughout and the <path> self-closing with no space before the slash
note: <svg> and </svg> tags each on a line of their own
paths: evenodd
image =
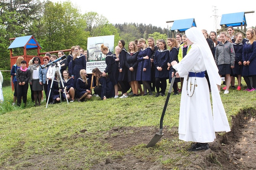
<svg viewBox="0 0 256 170">
<path fill-rule="evenodd" d="M 97 85 L 97 88 L 94 88 L 94 93 L 99 95 L 102 100 L 115 97 L 114 86 L 110 81 L 109 76 L 105 75 L 104 77 L 97 67 L 92 70 L 92 74 L 96 77 Z"/>
</svg>

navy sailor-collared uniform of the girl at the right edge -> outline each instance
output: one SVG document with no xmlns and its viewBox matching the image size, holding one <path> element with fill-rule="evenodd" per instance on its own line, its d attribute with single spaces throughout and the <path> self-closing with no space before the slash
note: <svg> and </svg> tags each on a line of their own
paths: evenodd
<svg viewBox="0 0 256 170">
<path fill-rule="evenodd" d="M 256 75 L 256 41 L 253 44 L 245 43 L 242 53 L 243 61 L 250 61 L 249 66 L 243 66 L 242 76 Z"/>
</svg>

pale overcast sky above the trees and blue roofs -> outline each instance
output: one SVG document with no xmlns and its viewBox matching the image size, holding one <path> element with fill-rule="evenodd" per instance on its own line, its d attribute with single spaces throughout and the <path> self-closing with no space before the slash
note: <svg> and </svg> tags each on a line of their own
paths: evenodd
<svg viewBox="0 0 256 170">
<path fill-rule="evenodd" d="M 66 0 L 50 1 L 65 2 Z M 105 16 L 112 24 L 135 22 L 167 28 L 167 26 L 172 26 L 172 23 L 167 24 L 166 21 L 194 18 L 196 26 L 199 29 L 206 29 L 208 33 L 215 30 L 214 6 L 216 6 L 215 9 L 217 10 L 215 11 L 219 16 L 217 18 L 217 28 L 219 29 L 222 14 L 255 11 L 256 9 L 256 5 L 252 3 L 253 1 L 236 3 L 238 2 L 236 0 L 71 0 L 71 2 L 79 6 L 82 14 L 94 11 Z M 256 26 L 255 13 L 245 14 L 245 18 L 247 27 Z"/>
</svg>

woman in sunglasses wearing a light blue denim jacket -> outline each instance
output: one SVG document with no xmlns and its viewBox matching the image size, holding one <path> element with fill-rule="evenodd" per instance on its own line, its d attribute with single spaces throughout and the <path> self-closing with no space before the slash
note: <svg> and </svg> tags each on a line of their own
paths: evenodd
<svg viewBox="0 0 256 170">
<path fill-rule="evenodd" d="M 48 99 L 48 95 L 47 95 L 48 86 L 47 86 L 47 78 L 46 78 L 48 67 L 44 68 L 44 66 L 46 66 L 49 63 L 49 60 L 50 60 L 49 56 L 45 55 L 43 58 L 44 64 L 42 65 L 42 67 L 39 68 L 39 83 L 44 87 L 46 101 Z"/>
</svg>

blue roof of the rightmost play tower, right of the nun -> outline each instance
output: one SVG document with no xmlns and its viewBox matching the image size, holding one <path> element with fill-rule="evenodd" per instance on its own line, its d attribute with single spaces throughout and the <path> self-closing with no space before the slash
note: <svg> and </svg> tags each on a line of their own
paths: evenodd
<svg viewBox="0 0 256 170">
<path fill-rule="evenodd" d="M 226 25 L 227 27 L 233 26 L 247 26 L 246 19 L 245 19 L 245 12 L 240 13 L 231 13 L 231 14 L 222 14 L 220 26 Z"/>
</svg>

